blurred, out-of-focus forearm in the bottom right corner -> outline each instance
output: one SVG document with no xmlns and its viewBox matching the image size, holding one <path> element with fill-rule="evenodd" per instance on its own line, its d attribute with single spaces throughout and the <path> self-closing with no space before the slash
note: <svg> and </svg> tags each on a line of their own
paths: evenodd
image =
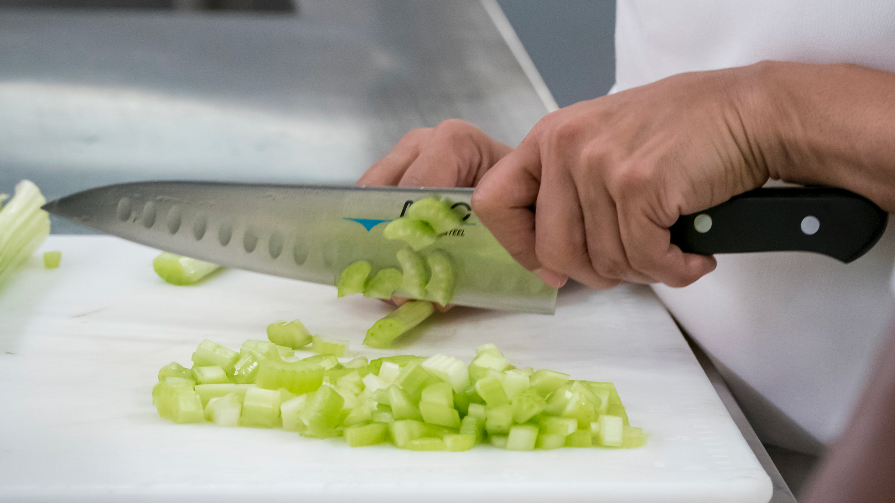
<svg viewBox="0 0 895 503">
<path fill-rule="evenodd" d="M 851 420 L 804 495 L 807 503 L 895 497 L 895 325 Z"/>
</svg>

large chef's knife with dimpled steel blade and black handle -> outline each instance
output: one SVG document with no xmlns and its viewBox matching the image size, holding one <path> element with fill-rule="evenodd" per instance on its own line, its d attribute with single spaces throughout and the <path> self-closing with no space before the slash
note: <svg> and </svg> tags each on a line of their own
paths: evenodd
<svg viewBox="0 0 895 503">
<path fill-rule="evenodd" d="M 131 241 L 227 267 L 333 285 L 357 260 L 398 267 L 403 245 L 382 229 L 415 200 L 446 198 L 463 225 L 435 248 L 452 257 L 451 303 L 553 313 L 556 289 L 512 259 L 471 211 L 471 188 L 355 187 L 161 181 L 109 185 L 44 209 Z M 671 227 L 688 253 L 810 251 L 842 262 L 882 236 L 885 211 L 842 189 L 756 189 Z M 401 292 L 396 292 L 400 295 Z"/>
</svg>

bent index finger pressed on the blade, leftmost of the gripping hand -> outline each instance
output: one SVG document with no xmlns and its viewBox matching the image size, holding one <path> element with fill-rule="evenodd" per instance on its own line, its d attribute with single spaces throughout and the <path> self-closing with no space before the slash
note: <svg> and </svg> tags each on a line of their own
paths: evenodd
<svg viewBox="0 0 895 503">
<path fill-rule="evenodd" d="M 494 238 L 528 270 L 541 268 L 535 253 L 532 206 L 540 187 L 540 153 L 523 141 L 494 165 L 472 195 L 472 209 Z"/>
</svg>

